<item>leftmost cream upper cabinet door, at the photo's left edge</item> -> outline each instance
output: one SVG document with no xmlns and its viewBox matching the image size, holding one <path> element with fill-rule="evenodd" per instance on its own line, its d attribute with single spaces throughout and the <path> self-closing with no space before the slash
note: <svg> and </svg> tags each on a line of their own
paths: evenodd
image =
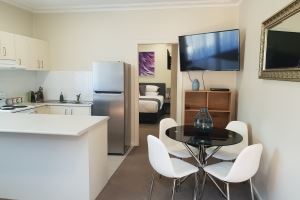
<svg viewBox="0 0 300 200">
<path fill-rule="evenodd" d="M 14 34 L 0 31 L 0 59 L 16 59 Z"/>
</svg>

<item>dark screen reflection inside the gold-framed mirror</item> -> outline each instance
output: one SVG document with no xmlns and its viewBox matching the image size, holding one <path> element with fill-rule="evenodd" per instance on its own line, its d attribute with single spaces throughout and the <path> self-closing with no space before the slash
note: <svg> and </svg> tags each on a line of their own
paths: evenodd
<svg viewBox="0 0 300 200">
<path fill-rule="evenodd" d="M 300 67 L 300 33 L 268 31 L 266 69 Z"/>
</svg>

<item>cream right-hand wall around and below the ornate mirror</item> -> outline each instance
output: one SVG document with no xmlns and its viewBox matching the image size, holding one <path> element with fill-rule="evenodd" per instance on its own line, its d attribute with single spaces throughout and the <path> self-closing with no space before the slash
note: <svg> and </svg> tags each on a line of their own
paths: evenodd
<svg viewBox="0 0 300 200">
<path fill-rule="evenodd" d="M 299 199 L 300 85 L 258 79 L 261 23 L 290 2 L 251 0 L 240 7 L 245 45 L 244 70 L 237 82 L 238 119 L 250 125 L 253 143 L 264 146 L 254 184 L 266 200 Z"/>
</svg>

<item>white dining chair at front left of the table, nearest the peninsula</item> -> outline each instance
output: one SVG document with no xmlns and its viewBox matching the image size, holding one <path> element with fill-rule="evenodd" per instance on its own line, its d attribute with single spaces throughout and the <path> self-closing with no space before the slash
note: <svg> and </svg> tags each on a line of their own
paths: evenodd
<svg viewBox="0 0 300 200">
<path fill-rule="evenodd" d="M 158 138 L 148 135 L 148 156 L 152 168 L 160 175 L 173 179 L 172 200 L 174 199 L 176 182 L 180 178 L 187 177 L 191 174 L 195 175 L 194 199 L 196 199 L 198 191 L 198 167 L 180 160 L 178 158 L 170 158 L 165 145 Z M 152 175 L 150 187 L 150 199 L 154 186 L 154 174 Z"/>
</svg>

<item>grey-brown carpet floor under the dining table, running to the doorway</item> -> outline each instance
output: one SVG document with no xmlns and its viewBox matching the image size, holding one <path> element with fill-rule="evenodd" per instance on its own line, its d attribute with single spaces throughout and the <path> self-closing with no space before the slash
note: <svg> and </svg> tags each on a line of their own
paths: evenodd
<svg viewBox="0 0 300 200">
<path fill-rule="evenodd" d="M 140 146 L 135 147 L 113 174 L 97 200 L 148 199 L 153 170 L 148 161 L 147 135 L 158 136 L 158 125 L 140 124 Z M 193 160 L 188 160 L 193 163 Z M 216 161 L 211 161 L 216 162 Z M 202 183 L 202 180 L 200 180 Z M 222 183 L 220 183 L 222 185 Z M 172 180 L 156 176 L 152 200 L 171 198 Z M 176 200 L 193 199 L 194 177 L 189 177 L 175 193 Z M 248 182 L 230 185 L 231 199 L 251 199 Z M 203 200 L 224 199 L 210 180 L 207 180 Z"/>
</svg>

